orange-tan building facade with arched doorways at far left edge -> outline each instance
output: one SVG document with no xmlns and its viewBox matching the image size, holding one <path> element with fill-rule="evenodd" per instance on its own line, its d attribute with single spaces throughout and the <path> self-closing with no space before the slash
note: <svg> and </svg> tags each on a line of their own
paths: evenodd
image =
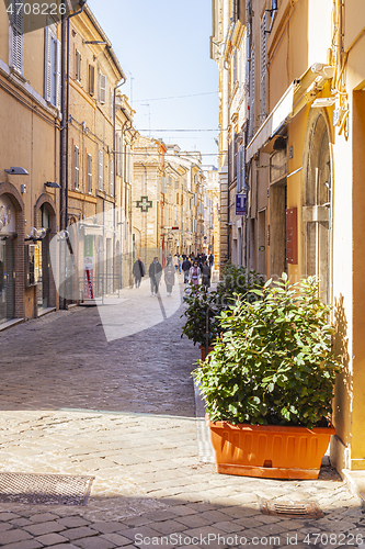
<svg viewBox="0 0 365 549">
<path fill-rule="evenodd" d="M 49 242 L 59 228 L 60 29 L 47 23 L 24 33 L 24 13 L 9 19 L 0 4 L 2 327 L 58 305 Z"/>
</svg>

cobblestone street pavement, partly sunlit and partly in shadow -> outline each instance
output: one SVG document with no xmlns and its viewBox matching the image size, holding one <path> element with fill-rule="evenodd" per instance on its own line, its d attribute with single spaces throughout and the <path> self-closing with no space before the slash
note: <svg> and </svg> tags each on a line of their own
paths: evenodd
<svg viewBox="0 0 365 549">
<path fill-rule="evenodd" d="M 198 459 L 198 350 L 180 337 L 181 312 L 111 343 L 96 309 L 0 334 L 0 472 L 94 477 L 85 506 L 0 502 L 1 547 L 362 545 L 360 501 L 331 468 L 318 481 L 274 481 Z M 259 497 L 317 502 L 324 517 L 266 516 Z"/>
</svg>

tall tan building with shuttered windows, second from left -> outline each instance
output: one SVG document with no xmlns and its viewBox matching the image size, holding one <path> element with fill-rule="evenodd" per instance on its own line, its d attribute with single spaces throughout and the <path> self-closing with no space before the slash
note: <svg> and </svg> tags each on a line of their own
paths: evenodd
<svg viewBox="0 0 365 549">
<path fill-rule="evenodd" d="M 69 24 L 65 210 L 78 277 L 66 298 L 85 301 L 129 284 L 134 111 L 121 92 L 119 61 L 88 5 Z M 93 265 L 91 285 L 85 257 Z"/>
</svg>

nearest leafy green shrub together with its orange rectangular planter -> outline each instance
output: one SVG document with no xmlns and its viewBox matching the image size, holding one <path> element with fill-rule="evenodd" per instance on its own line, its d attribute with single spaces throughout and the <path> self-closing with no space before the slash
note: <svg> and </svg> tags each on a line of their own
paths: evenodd
<svg viewBox="0 0 365 549">
<path fill-rule="evenodd" d="M 218 472 L 318 478 L 340 371 L 318 291 L 316 278 L 289 284 L 284 273 L 253 290 L 258 301 L 237 298 L 220 314 L 223 335 L 193 372 Z"/>
</svg>

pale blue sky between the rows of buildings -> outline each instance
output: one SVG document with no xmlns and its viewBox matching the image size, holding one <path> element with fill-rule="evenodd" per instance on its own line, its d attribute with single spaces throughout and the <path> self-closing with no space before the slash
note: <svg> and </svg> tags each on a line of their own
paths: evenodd
<svg viewBox="0 0 365 549">
<path fill-rule="evenodd" d="M 218 72 L 209 58 L 210 0 L 88 0 L 127 77 L 121 91 L 136 111 L 137 130 L 201 150 L 216 165 Z M 132 80 L 133 78 L 133 80 Z M 178 98 L 179 96 L 193 96 Z M 158 98 L 170 98 L 156 100 Z M 145 103 L 148 103 L 147 107 Z M 150 125 L 149 125 L 150 124 Z M 156 130 L 169 130 L 157 132 Z M 142 132 L 145 133 L 145 132 Z"/>
</svg>

